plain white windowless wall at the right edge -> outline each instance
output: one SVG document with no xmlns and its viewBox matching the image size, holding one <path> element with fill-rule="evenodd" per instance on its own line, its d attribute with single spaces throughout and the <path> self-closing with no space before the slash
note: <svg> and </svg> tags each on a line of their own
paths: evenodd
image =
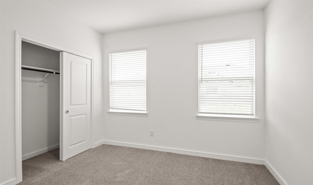
<svg viewBox="0 0 313 185">
<path fill-rule="evenodd" d="M 313 185 L 313 1 L 266 8 L 266 160 L 289 185 Z"/>
</svg>

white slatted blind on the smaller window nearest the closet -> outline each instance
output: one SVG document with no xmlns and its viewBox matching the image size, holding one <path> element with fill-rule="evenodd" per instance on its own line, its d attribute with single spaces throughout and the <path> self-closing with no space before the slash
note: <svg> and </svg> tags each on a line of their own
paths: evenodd
<svg viewBox="0 0 313 185">
<path fill-rule="evenodd" d="M 146 50 L 110 54 L 110 111 L 146 112 Z"/>
</svg>

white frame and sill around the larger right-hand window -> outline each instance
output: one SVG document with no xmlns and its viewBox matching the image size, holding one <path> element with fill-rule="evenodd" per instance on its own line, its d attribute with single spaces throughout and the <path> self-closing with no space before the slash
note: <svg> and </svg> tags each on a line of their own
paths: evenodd
<svg viewBox="0 0 313 185">
<path fill-rule="evenodd" d="M 233 115 L 233 114 L 212 114 L 212 113 L 200 113 L 200 101 L 199 101 L 199 46 L 200 45 L 206 45 L 206 44 L 222 44 L 222 43 L 227 43 L 227 42 L 240 42 L 240 41 L 248 41 L 248 40 L 253 40 L 254 41 L 254 67 L 253 67 L 253 81 L 254 81 L 254 92 L 253 92 L 253 115 L 248 116 L 248 115 Z M 259 122 L 259 118 L 256 116 L 257 115 L 257 110 L 256 110 L 256 38 L 240 38 L 240 39 L 235 39 L 235 40 L 219 40 L 219 41 L 206 41 L 206 42 L 201 42 L 197 43 L 197 96 L 198 96 L 198 111 L 196 115 L 196 119 L 199 120 L 218 120 L 218 121 L 238 121 L 238 122 L 254 122 L 257 123 Z"/>
</svg>

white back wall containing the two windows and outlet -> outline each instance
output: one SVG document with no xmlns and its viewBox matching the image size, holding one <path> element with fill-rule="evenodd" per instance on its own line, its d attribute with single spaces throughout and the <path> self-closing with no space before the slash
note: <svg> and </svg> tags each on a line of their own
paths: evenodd
<svg viewBox="0 0 313 185">
<path fill-rule="evenodd" d="M 109 141 L 264 159 L 263 11 L 104 35 L 105 111 L 109 110 L 109 53 L 147 49 L 148 117 L 105 115 Z M 256 39 L 259 123 L 197 120 L 197 43 Z M 155 137 L 149 131 L 155 131 Z"/>
</svg>

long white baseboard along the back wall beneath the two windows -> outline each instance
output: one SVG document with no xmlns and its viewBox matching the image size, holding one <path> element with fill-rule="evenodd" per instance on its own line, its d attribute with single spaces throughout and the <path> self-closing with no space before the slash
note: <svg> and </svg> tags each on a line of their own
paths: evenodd
<svg viewBox="0 0 313 185">
<path fill-rule="evenodd" d="M 213 153 L 192 151 L 192 150 L 182 150 L 182 149 L 177 149 L 177 148 L 134 144 L 134 143 L 111 141 L 111 140 L 104 140 L 103 144 L 110 144 L 110 145 L 116 145 L 116 146 L 126 146 L 126 147 L 131 147 L 131 148 L 140 148 L 140 149 L 147 149 L 147 150 L 156 150 L 156 151 L 161 151 L 161 152 L 170 152 L 170 153 L 176 153 L 176 154 L 184 154 L 184 155 L 189 155 L 189 156 L 198 156 L 198 157 L 213 158 L 213 159 L 235 161 L 235 162 L 264 164 L 264 160 L 262 160 L 262 159 L 244 158 L 244 157 L 239 157 L 239 156 L 231 156 L 231 155 L 224 155 L 224 154 L 213 154 Z"/>
</svg>

